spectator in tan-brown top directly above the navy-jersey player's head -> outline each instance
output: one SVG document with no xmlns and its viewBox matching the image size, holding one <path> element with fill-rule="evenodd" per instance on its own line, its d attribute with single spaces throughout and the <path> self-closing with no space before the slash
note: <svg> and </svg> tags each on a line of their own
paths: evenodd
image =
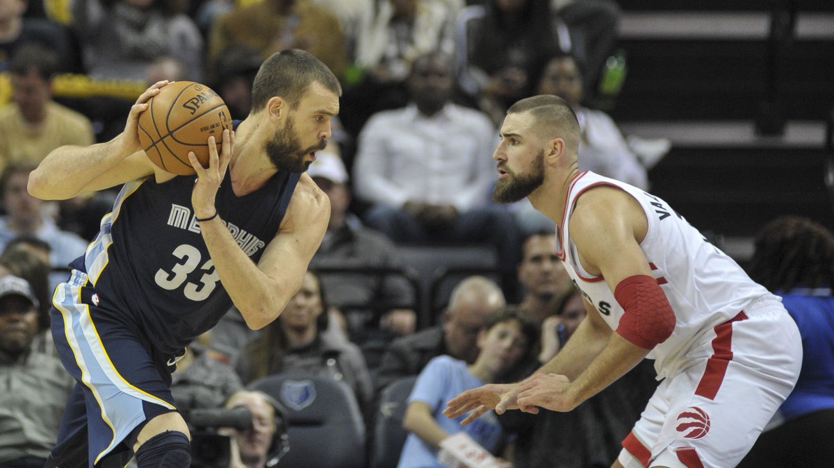
<svg viewBox="0 0 834 468">
<path fill-rule="evenodd" d="M 339 19 L 311 0 L 263 0 L 217 17 L 210 33 L 210 62 L 218 62 L 233 45 L 253 47 L 264 59 L 284 49 L 303 49 L 339 78 L 347 67 Z"/>
</svg>

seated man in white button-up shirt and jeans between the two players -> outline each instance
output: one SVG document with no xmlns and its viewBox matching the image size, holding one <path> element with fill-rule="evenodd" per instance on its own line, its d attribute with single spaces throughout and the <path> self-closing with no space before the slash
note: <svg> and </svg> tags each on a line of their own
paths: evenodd
<svg viewBox="0 0 834 468">
<path fill-rule="evenodd" d="M 354 162 L 356 195 L 373 205 L 365 223 L 395 242 L 495 246 L 509 289 L 519 240 L 512 213 L 488 197 L 497 178 L 495 127 L 481 112 L 450 102 L 451 66 L 440 52 L 417 58 L 409 106 L 370 118 Z"/>
</svg>

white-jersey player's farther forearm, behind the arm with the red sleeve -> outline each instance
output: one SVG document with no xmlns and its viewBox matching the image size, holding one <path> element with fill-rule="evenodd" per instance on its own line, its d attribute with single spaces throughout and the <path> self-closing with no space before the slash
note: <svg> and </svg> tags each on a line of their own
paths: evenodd
<svg viewBox="0 0 834 468">
<path fill-rule="evenodd" d="M 559 374 L 574 381 L 600 355 L 610 335 L 610 329 L 595 327 L 589 320 L 582 321 L 556 356 L 535 373 Z"/>
</svg>

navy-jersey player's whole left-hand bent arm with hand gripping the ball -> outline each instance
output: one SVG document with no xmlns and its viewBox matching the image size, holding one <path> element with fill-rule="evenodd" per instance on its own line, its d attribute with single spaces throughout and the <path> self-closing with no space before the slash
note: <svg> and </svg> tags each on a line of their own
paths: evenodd
<svg viewBox="0 0 834 468">
<path fill-rule="evenodd" d="M 154 173 L 153 163 L 138 140 L 139 113 L 167 81 L 157 82 L 138 97 L 128 114 L 124 132 L 109 142 L 88 147 L 58 147 L 29 176 L 28 191 L 43 200 L 65 200 L 115 187 Z"/>
</svg>

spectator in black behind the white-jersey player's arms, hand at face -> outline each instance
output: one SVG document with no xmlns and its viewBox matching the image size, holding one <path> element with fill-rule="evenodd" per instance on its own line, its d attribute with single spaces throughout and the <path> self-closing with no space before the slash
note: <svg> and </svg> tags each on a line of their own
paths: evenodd
<svg viewBox="0 0 834 468">
<path fill-rule="evenodd" d="M 570 283 L 569 283 L 570 284 Z M 538 359 L 517 366 L 508 381 L 529 376 L 560 351 L 585 319 L 581 293 L 574 286 L 562 296 L 553 316 L 541 327 Z M 515 434 L 515 468 L 582 466 L 607 468 L 620 453 L 620 441 L 640 418 L 657 382 L 651 360 L 634 369 L 605 390 L 568 412 L 529 414 L 507 411 L 498 416 L 501 426 Z"/>
</svg>

